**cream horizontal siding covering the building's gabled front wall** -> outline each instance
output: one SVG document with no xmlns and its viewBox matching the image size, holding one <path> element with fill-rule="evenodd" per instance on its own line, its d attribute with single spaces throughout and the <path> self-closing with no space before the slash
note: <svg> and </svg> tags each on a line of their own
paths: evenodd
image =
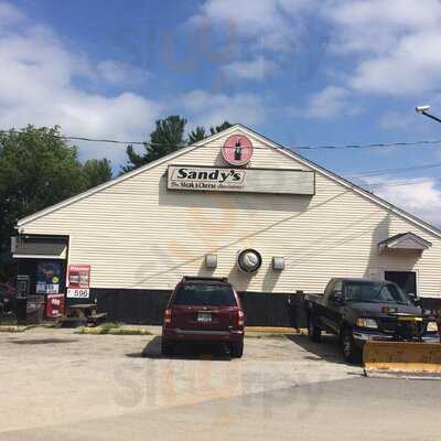
<svg viewBox="0 0 441 441">
<path fill-rule="evenodd" d="M 230 135 L 230 133 L 228 133 Z M 68 235 L 69 263 L 92 266 L 99 288 L 173 288 L 183 275 L 228 276 L 238 290 L 322 291 L 329 278 L 384 270 L 418 271 L 419 293 L 441 293 L 441 239 L 342 184 L 316 173 L 315 195 L 166 190 L 168 164 L 224 165 L 224 138 L 139 173 L 23 225 L 29 234 Z M 250 166 L 311 170 L 254 139 Z M 377 244 L 412 232 L 433 244 L 420 257 L 381 254 Z M 258 249 L 255 276 L 235 268 L 238 250 Z M 214 272 L 207 252 L 218 255 Z M 284 256 L 283 271 L 271 269 Z"/>
</svg>

